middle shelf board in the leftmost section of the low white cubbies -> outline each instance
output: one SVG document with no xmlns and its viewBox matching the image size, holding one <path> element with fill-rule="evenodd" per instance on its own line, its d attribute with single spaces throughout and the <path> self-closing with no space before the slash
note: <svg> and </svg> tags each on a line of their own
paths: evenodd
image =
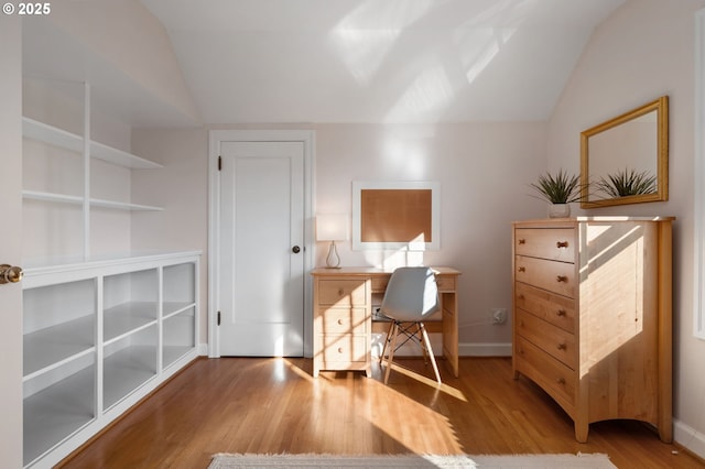
<svg viewBox="0 0 705 469">
<path fill-rule="evenodd" d="M 94 351 L 95 316 L 24 335 L 24 381 Z"/>
</svg>

